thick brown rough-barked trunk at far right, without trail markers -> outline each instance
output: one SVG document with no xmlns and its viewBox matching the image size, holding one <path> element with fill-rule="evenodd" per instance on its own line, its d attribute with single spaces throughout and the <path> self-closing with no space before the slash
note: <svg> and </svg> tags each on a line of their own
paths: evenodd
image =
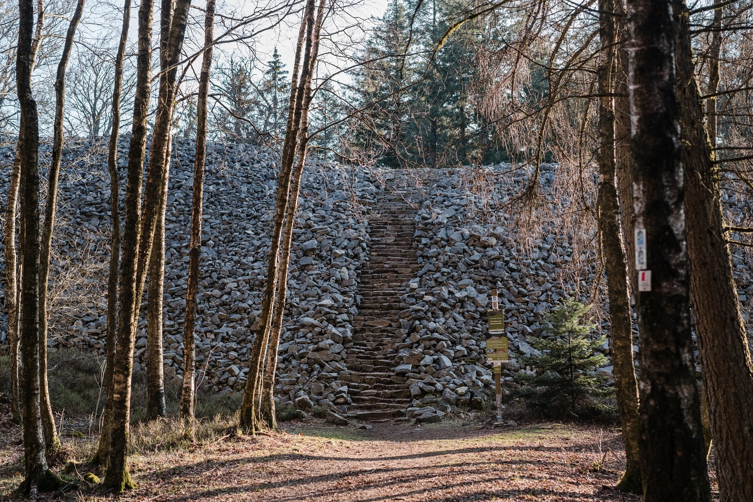
<svg viewBox="0 0 753 502">
<path fill-rule="evenodd" d="M 739 310 L 712 144 L 694 73 L 690 14 L 681 0 L 676 65 L 685 165 L 693 317 L 721 500 L 753 500 L 753 364 Z M 718 64 L 718 62 L 716 63 Z"/>
</svg>

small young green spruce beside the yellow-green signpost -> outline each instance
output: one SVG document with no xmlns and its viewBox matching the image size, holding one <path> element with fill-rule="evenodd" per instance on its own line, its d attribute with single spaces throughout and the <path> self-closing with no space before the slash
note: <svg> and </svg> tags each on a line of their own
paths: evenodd
<svg viewBox="0 0 753 502">
<path fill-rule="evenodd" d="M 596 373 L 607 361 L 596 351 L 605 338 L 588 338 L 595 324 L 581 321 L 587 312 L 587 306 L 574 301 L 559 306 L 547 319 L 551 337 L 532 343 L 541 355 L 526 357 L 525 363 L 537 374 L 521 377 L 530 408 L 560 418 L 594 418 L 609 411 L 603 400 L 614 390 Z"/>
</svg>

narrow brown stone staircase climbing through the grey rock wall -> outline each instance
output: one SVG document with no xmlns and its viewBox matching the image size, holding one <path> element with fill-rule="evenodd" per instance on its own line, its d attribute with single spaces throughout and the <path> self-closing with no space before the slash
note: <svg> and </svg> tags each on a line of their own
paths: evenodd
<svg viewBox="0 0 753 502">
<path fill-rule="evenodd" d="M 380 197 L 369 218 L 371 259 L 360 275 L 362 300 L 353 318 L 353 347 L 347 356 L 353 372 L 351 418 L 392 418 L 410 406 L 406 379 L 395 374 L 399 364 L 395 346 L 403 341 L 398 333 L 401 320 L 407 325 L 410 318 L 403 303 L 407 284 L 421 268 L 413 242 L 417 207 L 401 193 L 390 191 Z"/>
</svg>

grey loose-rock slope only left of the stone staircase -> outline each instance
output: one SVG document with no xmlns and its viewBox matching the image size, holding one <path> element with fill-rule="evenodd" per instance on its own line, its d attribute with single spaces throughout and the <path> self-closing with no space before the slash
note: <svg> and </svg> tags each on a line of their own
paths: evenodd
<svg viewBox="0 0 753 502">
<path fill-rule="evenodd" d="M 59 225 L 53 243 L 65 259 L 53 265 L 53 289 L 59 295 L 50 309 L 57 312 L 50 350 L 76 347 L 104 354 L 110 234 L 106 147 L 102 140 L 71 143 L 63 160 Z M 179 376 L 195 145 L 175 138 L 173 147 L 166 213 L 164 346 L 166 364 L 175 367 Z M 127 138 L 120 149 L 122 194 Z M 13 155 L 11 146 L 0 149 L 0 190 L 8 190 Z M 43 165 L 49 156 L 49 145 L 43 145 Z M 245 382 L 248 348 L 261 311 L 266 277 L 277 164 L 275 155 L 252 145 L 210 144 L 208 148 L 197 366 L 200 375 L 206 373 L 205 385 L 213 385 L 217 391 L 239 389 Z M 283 377 L 279 387 L 291 397 L 317 385 L 322 374 L 337 375 L 345 369 L 341 361 L 356 312 L 356 271 L 368 259 L 364 208 L 373 201 L 373 193 L 370 177 L 361 170 L 306 167 L 280 347 Z M 5 196 L 2 199 L 5 201 Z M 5 207 L 0 211 L 5 214 Z M 83 291 L 78 288 L 81 282 L 88 285 Z M 5 294 L 5 284 L 2 291 Z M 142 317 L 136 370 L 145 361 L 145 329 Z M 5 309 L 0 317 L 0 350 L 8 350 Z"/>
</svg>

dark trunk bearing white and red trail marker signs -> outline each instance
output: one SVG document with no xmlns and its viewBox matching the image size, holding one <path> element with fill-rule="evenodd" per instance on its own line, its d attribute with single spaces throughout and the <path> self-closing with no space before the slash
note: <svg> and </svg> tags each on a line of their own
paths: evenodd
<svg viewBox="0 0 753 502">
<path fill-rule="evenodd" d="M 651 271 L 650 291 L 637 294 L 644 500 L 708 502 L 691 337 L 672 0 L 629 0 L 627 8 L 634 214 L 636 229 L 645 230 Z"/>
</svg>

